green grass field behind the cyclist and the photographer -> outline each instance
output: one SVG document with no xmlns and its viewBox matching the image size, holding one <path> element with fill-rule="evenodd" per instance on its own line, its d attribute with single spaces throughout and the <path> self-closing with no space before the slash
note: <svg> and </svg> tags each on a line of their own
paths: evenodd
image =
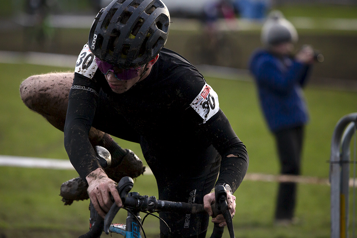
<svg viewBox="0 0 357 238">
<path fill-rule="evenodd" d="M 19 96 L 19 85 L 26 77 L 67 70 L 70 69 L 0 64 L 0 154 L 68 159 L 62 132 L 28 110 Z M 278 174 L 275 143 L 262 118 L 255 85 L 205 77 L 218 93 L 220 106 L 233 129 L 247 146 L 248 172 Z M 327 178 L 333 128 L 342 116 L 357 111 L 357 93 L 309 86 L 305 95 L 311 120 L 306 128 L 302 173 Z M 139 145 L 117 138 L 116 141 L 143 159 Z M 63 206 L 59 196 L 61 183 L 73 177 L 77 177 L 75 171 L 0 167 L 0 237 L 78 237 L 85 233 L 89 202 Z M 156 195 L 154 176 L 137 178 L 132 191 Z M 299 222 L 292 227 L 273 226 L 276 191 L 277 183 L 243 181 L 235 193 L 237 213 L 233 223 L 237 238 L 330 237 L 330 187 L 299 185 Z M 121 221 L 125 217 L 120 213 Z M 155 219 L 144 224 L 149 237 L 157 237 L 157 224 Z"/>
</svg>

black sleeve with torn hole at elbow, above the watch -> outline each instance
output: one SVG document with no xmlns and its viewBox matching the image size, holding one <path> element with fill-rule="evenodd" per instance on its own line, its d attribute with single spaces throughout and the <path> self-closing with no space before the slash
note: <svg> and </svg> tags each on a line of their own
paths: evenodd
<svg viewBox="0 0 357 238">
<path fill-rule="evenodd" d="M 227 183 L 235 192 L 248 169 L 249 157 L 245 145 L 237 137 L 221 109 L 215 117 L 202 124 L 202 130 L 222 157 L 216 184 Z M 238 157 L 227 157 L 228 155 Z"/>
</svg>

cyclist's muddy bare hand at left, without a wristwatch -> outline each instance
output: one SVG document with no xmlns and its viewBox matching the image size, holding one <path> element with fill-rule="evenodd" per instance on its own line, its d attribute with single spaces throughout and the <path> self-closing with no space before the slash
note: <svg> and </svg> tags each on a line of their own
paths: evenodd
<svg viewBox="0 0 357 238">
<path fill-rule="evenodd" d="M 88 183 L 88 196 L 101 217 L 105 218 L 106 213 L 109 212 L 113 204 L 111 196 L 114 198 L 116 205 L 122 207 L 116 183 L 114 180 L 108 178 L 102 168 L 97 168 L 90 172 L 86 180 Z"/>
</svg>

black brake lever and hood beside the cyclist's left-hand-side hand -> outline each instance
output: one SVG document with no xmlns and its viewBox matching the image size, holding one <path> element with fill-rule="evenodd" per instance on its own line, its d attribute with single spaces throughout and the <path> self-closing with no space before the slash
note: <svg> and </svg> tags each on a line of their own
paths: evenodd
<svg viewBox="0 0 357 238">
<path fill-rule="evenodd" d="M 130 192 L 131 188 L 134 186 L 134 180 L 130 177 L 123 177 L 120 179 L 119 183 L 116 186 L 116 189 L 119 192 L 119 196 L 122 204 L 125 203 L 125 199 Z M 113 203 L 109 212 L 106 214 L 104 218 L 104 232 L 105 234 L 109 234 L 109 227 L 111 222 L 113 221 L 115 215 L 120 210 L 120 207 L 116 206 L 116 203 Z"/>
</svg>

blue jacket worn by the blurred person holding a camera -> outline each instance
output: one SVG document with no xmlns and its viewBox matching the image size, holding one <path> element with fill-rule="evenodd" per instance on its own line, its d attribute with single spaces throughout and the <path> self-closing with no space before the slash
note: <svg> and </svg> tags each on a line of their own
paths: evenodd
<svg viewBox="0 0 357 238">
<path fill-rule="evenodd" d="M 302 87 L 310 66 L 257 50 L 248 67 L 255 77 L 260 104 L 272 132 L 308 121 Z"/>
</svg>

